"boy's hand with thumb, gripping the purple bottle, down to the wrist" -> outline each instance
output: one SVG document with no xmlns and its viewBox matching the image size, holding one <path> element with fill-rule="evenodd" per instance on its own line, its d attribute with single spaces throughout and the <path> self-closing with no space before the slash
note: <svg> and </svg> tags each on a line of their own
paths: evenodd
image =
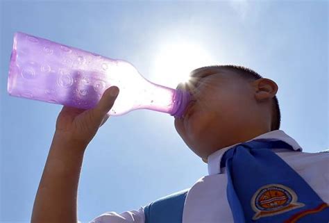
<svg viewBox="0 0 329 223">
<path fill-rule="evenodd" d="M 99 103 L 89 110 L 63 106 L 56 122 L 56 135 L 62 140 L 69 140 L 78 144 L 87 144 L 94 138 L 99 127 L 109 115 L 119 94 L 119 88 L 112 86 L 102 95 Z"/>
</svg>

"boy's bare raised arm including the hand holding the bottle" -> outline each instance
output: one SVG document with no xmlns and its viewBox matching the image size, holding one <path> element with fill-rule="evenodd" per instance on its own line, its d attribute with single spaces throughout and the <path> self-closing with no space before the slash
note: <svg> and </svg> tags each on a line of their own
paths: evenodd
<svg viewBox="0 0 329 223">
<path fill-rule="evenodd" d="M 87 144 L 108 119 L 119 89 L 107 89 L 95 108 L 64 106 L 40 181 L 32 223 L 76 223 L 78 180 Z"/>
</svg>

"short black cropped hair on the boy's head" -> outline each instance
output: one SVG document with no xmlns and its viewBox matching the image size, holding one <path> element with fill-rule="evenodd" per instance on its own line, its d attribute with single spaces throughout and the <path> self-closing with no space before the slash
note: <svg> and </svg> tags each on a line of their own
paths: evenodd
<svg viewBox="0 0 329 223">
<path fill-rule="evenodd" d="M 247 67 L 239 66 L 239 65 L 212 65 L 207 67 L 200 67 L 198 69 L 228 69 L 232 72 L 240 74 L 242 77 L 246 79 L 258 80 L 262 79 L 262 76 L 257 72 L 249 69 Z M 278 97 L 276 95 L 273 97 L 272 103 L 272 119 L 271 119 L 271 131 L 280 129 L 281 122 L 281 113 L 278 102 Z"/>
</svg>

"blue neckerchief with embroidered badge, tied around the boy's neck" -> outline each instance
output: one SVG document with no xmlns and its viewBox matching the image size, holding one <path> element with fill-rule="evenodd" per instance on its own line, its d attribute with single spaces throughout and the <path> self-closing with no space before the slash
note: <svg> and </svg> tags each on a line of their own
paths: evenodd
<svg viewBox="0 0 329 223">
<path fill-rule="evenodd" d="M 328 204 L 271 149 L 281 140 L 252 140 L 223 154 L 228 203 L 235 223 L 328 223 Z"/>
</svg>

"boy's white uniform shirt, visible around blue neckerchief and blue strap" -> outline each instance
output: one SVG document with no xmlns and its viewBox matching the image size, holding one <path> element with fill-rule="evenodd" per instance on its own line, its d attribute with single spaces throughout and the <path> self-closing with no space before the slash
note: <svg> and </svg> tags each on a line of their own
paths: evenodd
<svg viewBox="0 0 329 223">
<path fill-rule="evenodd" d="M 258 135 L 254 139 L 277 139 L 301 149 L 299 144 L 284 131 L 276 130 Z M 233 223 L 233 215 L 226 197 L 227 176 L 225 167 L 220 167 L 221 156 L 236 144 L 219 149 L 208 156 L 208 176 L 196 181 L 190 188 L 183 209 L 183 223 Z M 310 154 L 287 149 L 273 149 L 292 167 L 324 202 L 329 203 L 329 153 Z M 124 213 L 108 212 L 90 223 L 144 223 L 144 209 Z"/>
</svg>

